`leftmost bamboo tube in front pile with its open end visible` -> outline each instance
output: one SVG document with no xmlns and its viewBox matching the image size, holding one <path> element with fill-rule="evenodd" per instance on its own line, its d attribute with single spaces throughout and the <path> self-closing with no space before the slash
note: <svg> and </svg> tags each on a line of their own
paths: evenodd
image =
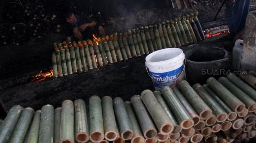
<svg viewBox="0 0 256 143">
<path fill-rule="evenodd" d="M 74 101 L 74 113 L 75 139 L 78 143 L 85 143 L 89 141 L 89 130 L 84 100 L 77 99 Z"/>
</svg>

